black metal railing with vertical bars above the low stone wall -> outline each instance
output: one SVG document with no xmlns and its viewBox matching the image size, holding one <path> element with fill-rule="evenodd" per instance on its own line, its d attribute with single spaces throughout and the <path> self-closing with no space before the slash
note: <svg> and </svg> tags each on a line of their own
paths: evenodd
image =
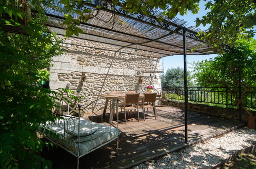
<svg viewBox="0 0 256 169">
<path fill-rule="evenodd" d="M 222 104 L 226 107 L 235 106 L 235 98 L 239 97 L 239 91 L 231 88 L 209 88 L 209 87 L 188 87 L 188 101 L 204 102 L 212 104 Z M 184 100 L 184 87 L 163 88 L 167 92 L 170 100 Z M 250 92 L 243 99 L 243 104 L 247 108 L 256 108 L 256 88 L 250 88 Z"/>
</svg>

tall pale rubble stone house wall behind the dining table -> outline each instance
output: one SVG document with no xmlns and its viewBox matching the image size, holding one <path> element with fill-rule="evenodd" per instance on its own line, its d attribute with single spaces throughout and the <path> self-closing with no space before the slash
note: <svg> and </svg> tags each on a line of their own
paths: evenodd
<svg viewBox="0 0 256 169">
<path fill-rule="evenodd" d="M 160 60 L 147 57 L 145 52 L 136 54 L 131 49 L 116 53 L 119 48 L 76 37 L 66 38 L 65 52 L 52 58 L 50 89 L 67 88 L 69 83 L 76 96 L 85 97 L 83 105 L 110 91 L 144 93 L 148 85 L 152 85 L 155 92 L 161 91 Z M 101 107 L 102 101 L 98 101 L 96 110 Z"/>
</svg>

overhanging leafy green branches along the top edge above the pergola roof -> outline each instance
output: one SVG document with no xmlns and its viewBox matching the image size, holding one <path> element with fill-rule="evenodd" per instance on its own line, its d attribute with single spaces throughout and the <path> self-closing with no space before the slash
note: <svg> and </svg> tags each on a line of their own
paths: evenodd
<svg viewBox="0 0 256 169">
<path fill-rule="evenodd" d="M 204 0 L 206 1 L 206 0 Z M 64 24 L 67 25 L 66 35 L 78 35 L 83 33 L 78 25 L 87 20 L 96 17 L 92 14 L 92 8 L 87 8 L 86 4 L 91 1 L 76 1 L 76 0 L 61 0 L 65 6 L 66 20 Z M 164 16 L 168 18 L 175 17 L 178 13 L 184 15 L 187 11 L 193 14 L 198 13 L 200 0 L 112 0 L 112 1 L 95 1 L 97 7 L 95 9 L 101 10 L 106 3 L 112 6 L 112 10 L 116 5 L 122 7 L 127 11 L 127 15 L 133 13 L 141 13 L 147 16 L 153 16 L 155 10 L 161 10 L 162 13 L 156 19 L 163 19 Z M 202 40 L 208 44 L 213 44 L 215 48 L 223 48 L 223 43 L 233 45 L 234 41 L 241 36 L 249 38 L 254 36 L 253 26 L 255 25 L 255 2 L 253 0 L 233 1 L 233 0 L 208 0 L 205 9 L 210 12 L 202 19 L 196 19 L 196 26 L 209 24 L 210 27 L 201 32 Z M 77 18 L 73 18 L 68 14 L 76 13 Z"/>
</svg>

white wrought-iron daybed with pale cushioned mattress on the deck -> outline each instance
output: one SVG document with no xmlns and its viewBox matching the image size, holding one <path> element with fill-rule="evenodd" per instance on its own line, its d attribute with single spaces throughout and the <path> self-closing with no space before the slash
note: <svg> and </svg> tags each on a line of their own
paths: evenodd
<svg viewBox="0 0 256 169">
<path fill-rule="evenodd" d="M 82 105 L 78 104 L 78 117 L 62 116 L 55 122 L 47 122 L 46 125 L 42 125 L 42 134 L 48 140 L 77 157 L 77 168 L 79 168 L 80 157 L 115 139 L 117 139 L 116 153 L 118 153 L 119 146 L 118 113 L 117 128 L 113 128 L 103 123 L 80 118 L 81 107 Z"/>
</svg>

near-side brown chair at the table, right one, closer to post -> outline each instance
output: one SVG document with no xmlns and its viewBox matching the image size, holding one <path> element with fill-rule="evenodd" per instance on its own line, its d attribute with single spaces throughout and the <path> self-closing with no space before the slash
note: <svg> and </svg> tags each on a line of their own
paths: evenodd
<svg viewBox="0 0 256 169">
<path fill-rule="evenodd" d="M 154 117 L 156 119 L 155 100 L 156 100 L 156 93 L 144 93 L 144 98 L 142 100 L 142 103 L 139 104 L 139 106 L 143 110 L 144 121 L 145 121 L 145 109 L 147 109 L 147 115 L 148 115 L 149 108 L 153 108 Z"/>
</svg>

